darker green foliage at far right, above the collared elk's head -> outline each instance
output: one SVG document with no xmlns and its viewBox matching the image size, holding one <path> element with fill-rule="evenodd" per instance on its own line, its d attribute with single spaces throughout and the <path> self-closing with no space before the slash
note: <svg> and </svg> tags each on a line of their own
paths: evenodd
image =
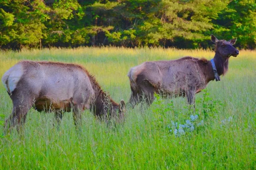
<svg viewBox="0 0 256 170">
<path fill-rule="evenodd" d="M 256 47 L 256 1 L 233 0 L 213 21 L 213 33 L 227 39 L 238 38 L 241 48 Z"/>
</svg>

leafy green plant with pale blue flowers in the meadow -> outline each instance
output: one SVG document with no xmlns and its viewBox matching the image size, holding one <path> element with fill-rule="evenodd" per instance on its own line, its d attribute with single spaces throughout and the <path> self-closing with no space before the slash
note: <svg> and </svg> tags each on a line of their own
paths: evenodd
<svg viewBox="0 0 256 170">
<path fill-rule="evenodd" d="M 202 90 L 204 92 L 202 98 L 197 99 L 196 105 L 201 108 L 199 111 L 197 109 L 196 113 L 191 107 L 184 106 L 187 110 L 186 117 L 189 118 L 179 119 L 177 109 L 174 108 L 173 100 L 169 100 L 166 104 L 165 100 L 161 98 L 159 94 L 154 94 L 155 100 L 152 107 L 153 112 L 153 126 L 157 129 L 165 129 L 165 133 L 171 132 L 175 136 L 180 136 L 187 134 L 191 136 L 191 133 L 198 133 L 200 129 L 205 128 L 204 125 L 211 124 L 216 115 L 219 112 L 222 102 L 218 99 L 213 99 L 207 93 L 207 89 Z M 174 115 L 174 120 L 168 119 L 168 114 Z M 208 119 L 210 118 L 210 119 Z"/>
</svg>

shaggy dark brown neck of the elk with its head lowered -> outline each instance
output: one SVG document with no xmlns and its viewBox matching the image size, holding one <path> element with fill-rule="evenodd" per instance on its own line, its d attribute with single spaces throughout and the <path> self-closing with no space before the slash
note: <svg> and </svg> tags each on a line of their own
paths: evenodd
<svg viewBox="0 0 256 170">
<path fill-rule="evenodd" d="M 103 115 L 106 116 L 108 112 L 112 114 L 114 109 L 119 107 L 119 104 L 117 104 L 106 92 L 101 89 L 94 76 L 90 75 L 89 77 L 95 95 L 95 98 L 90 106 L 90 108 L 93 109 L 93 113 L 99 117 Z"/>
</svg>

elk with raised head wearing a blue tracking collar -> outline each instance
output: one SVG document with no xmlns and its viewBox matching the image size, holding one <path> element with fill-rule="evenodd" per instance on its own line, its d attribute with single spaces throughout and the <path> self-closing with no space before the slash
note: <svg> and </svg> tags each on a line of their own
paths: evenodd
<svg viewBox="0 0 256 170">
<path fill-rule="evenodd" d="M 209 81 L 219 81 L 219 75 L 225 75 L 228 71 L 229 57 L 239 54 L 233 46 L 236 39 L 218 40 L 211 35 L 211 40 L 216 47 L 215 56 L 210 61 L 186 56 L 170 61 L 148 61 L 132 67 L 128 73 L 131 86 L 129 103 L 132 107 L 143 96 L 150 105 L 154 100 L 154 93 L 186 96 L 188 103 L 194 105 L 195 94 L 204 89 Z"/>
</svg>

